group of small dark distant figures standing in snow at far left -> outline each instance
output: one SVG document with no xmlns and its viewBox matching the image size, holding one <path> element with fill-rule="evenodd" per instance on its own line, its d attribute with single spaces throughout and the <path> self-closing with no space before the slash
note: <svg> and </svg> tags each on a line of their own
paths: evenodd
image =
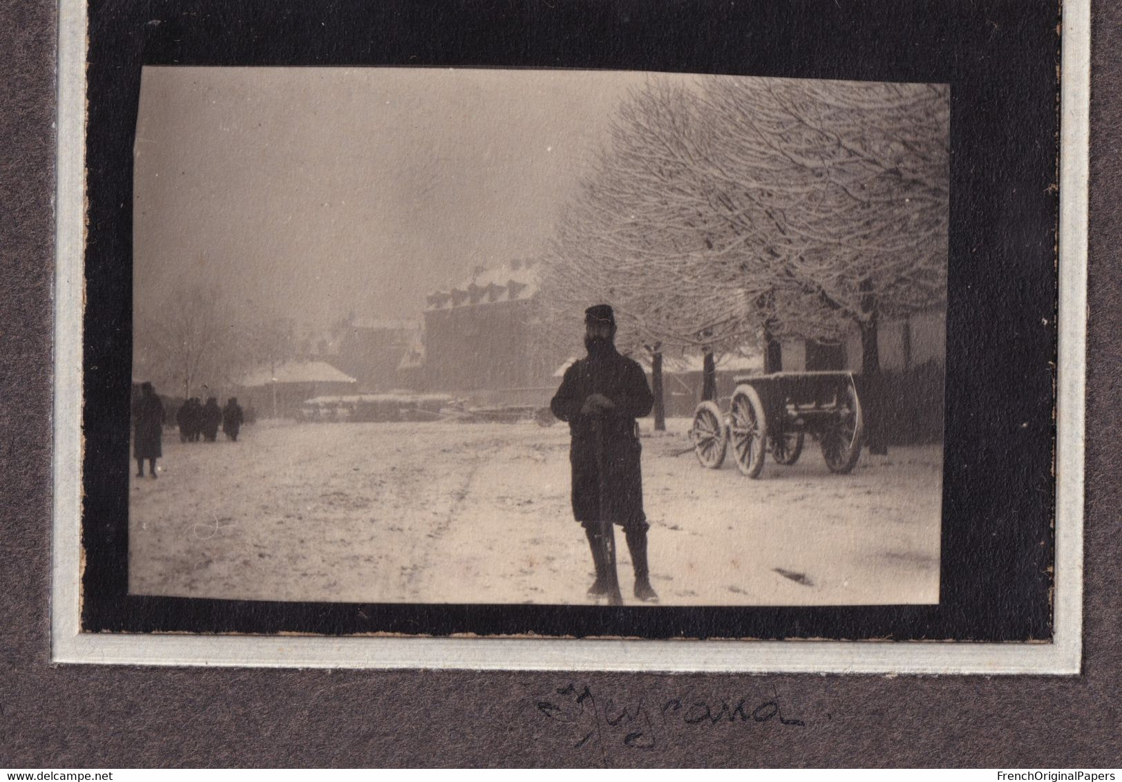
<svg viewBox="0 0 1122 782">
<path fill-rule="evenodd" d="M 249 408 L 252 414 L 252 407 Z M 164 403 L 159 401 L 150 383 L 140 384 L 140 395 L 132 402 L 132 458 L 137 461 L 137 478 L 144 478 L 144 463 L 148 462 L 148 475 L 156 478 L 156 460 L 163 456 Z M 238 441 L 246 414 L 237 397 L 230 397 L 226 407 L 218 406 L 218 399 L 210 397 L 202 404 L 199 397 L 183 403 L 175 422 L 180 425 L 180 440 L 197 442 L 199 438 L 214 442 L 218 427 L 222 426 L 233 442 Z M 251 423 L 251 420 L 250 420 Z"/>
</svg>

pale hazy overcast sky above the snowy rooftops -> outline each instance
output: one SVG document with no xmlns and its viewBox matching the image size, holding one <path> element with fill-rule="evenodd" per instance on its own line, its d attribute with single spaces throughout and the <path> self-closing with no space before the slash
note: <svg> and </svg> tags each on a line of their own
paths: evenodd
<svg viewBox="0 0 1122 782">
<path fill-rule="evenodd" d="M 146 67 L 138 314 L 210 282 L 316 328 L 537 254 L 644 73 Z"/>
</svg>

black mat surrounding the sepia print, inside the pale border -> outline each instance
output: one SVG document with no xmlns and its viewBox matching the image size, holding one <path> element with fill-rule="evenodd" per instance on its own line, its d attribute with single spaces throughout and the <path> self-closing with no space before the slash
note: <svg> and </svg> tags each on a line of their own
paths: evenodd
<svg viewBox="0 0 1122 782">
<path fill-rule="evenodd" d="M 1058 4 L 94 1 L 89 18 L 83 629 L 1051 637 Z M 949 84 L 939 605 L 607 608 L 129 595 L 132 146 L 144 65 L 564 67 Z"/>
</svg>

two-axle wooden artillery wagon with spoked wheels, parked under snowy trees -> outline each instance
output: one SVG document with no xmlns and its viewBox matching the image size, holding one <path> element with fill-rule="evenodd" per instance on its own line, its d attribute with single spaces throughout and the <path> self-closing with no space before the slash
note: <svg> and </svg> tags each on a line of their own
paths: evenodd
<svg viewBox="0 0 1122 782">
<path fill-rule="evenodd" d="M 865 425 L 850 372 L 774 372 L 734 381 L 727 413 L 715 402 L 693 413 L 690 440 L 702 467 L 720 467 L 732 445 L 737 469 L 758 478 L 767 453 L 780 464 L 797 462 L 809 434 L 831 472 L 853 470 Z"/>
</svg>

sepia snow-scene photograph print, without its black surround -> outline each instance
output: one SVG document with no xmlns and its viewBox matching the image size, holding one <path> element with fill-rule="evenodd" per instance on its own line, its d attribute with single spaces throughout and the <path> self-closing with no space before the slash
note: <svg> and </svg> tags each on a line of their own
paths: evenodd
<svg viewBox="0 0 1122 782">
<path fill-rule="evenodd" d="M 950 131 L 944 83 L 145 66 L 128 594 L 938 605 Z"/>
</svg>

